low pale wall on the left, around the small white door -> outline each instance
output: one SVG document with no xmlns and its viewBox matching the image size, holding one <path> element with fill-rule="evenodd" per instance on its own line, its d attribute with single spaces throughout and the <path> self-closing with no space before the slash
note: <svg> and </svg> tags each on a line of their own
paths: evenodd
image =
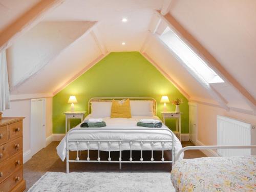
<svg viewBox="0 0 256 192">
<path fill-rule="evenodd" d="M 23 155 L 24 162 L 30 155 L 30 99 L 11 101 L 10 109 L 3 112 L 3 117 L 25 117 L 23 120 Z M 46 137 L 52 134 L 52 97 L 46 98 Z"/>
</svg>

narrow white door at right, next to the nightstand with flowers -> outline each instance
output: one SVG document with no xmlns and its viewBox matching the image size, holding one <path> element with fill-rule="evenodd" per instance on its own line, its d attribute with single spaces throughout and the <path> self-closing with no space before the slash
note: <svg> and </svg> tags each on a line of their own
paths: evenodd
<svg viewBox="0 0 256 192">
<path fill-rule="evenodd" d="M 196 144 L 197 141 L 197 105 L 189 104 L 189 140 Z"/>
</svg>

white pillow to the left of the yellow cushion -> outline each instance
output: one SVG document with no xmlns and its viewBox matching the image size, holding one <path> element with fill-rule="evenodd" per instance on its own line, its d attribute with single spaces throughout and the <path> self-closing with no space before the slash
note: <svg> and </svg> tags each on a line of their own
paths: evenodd
<svg viewBox="0 0 256 192">
<path fill-rule="evenodd" d="M 110 117 L 111 115 L 111 102 L 92 102 L 91 117 Z"/>
</svg>

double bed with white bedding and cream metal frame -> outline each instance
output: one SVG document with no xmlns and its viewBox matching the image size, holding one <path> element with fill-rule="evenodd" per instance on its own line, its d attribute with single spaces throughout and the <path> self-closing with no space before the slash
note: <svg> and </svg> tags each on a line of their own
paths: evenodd
<svg viewBox="0 0 256 192">
<path fill-rule="evenodd" d="M 100 128 L 81 128 L 80 124 L 71 129 L 57 146 L 57 153 L 62 161 L 66 158 L 67 173 L 70 162 L 110 162 L 119 163 L 173 163 L 175 154 L 182 145 L 175 134 L 163 125 L 161 128 L 147 128 L 136 126 L 140 119 L 151 118 L 160 120 L 156 116 L 156 101 L 153 98 L 129 98 L 131 100 L 132 118 L 110 118 L 109 107 L 112 99 L 122 101 L 127 98 L 92 98 L 89 100 L 91 112 L 85 119 L 101 117 L 106 126 Z M 134 102 L 132 102 L 134 101 Z M 140 101 L 140 102 L 139 102 Z M 152 103 L 148 105 L 146 103 Z M 95 113 L 98 109 L 97 114 Z M 143 111 L 143 109 L 146 109 Z M 104 117 L 105 116 L 105 117 Z M 90 150 L 98 151 L 97 160 L 90 159 Z M 69 159 L 69 151 L 76 151 L 75 160 Z M 80 151 L 87 151 L 87 159 L 79 158 Z M 109 152 L 108 160 L 100 159 L 100 151 Z M 110 152 L 119 152 L 119 159 L 112 160 Z M 122 151 L 130 151 L 130 159 L 122 159 Z M 132 151 L 141 151 L 139 161 L 133 160 Z M 152 158 L 143 160 L 143 151 L 151 151 Z M 161 160 L 153 158 L 154 151 L 162 151 Z M 164 151 L 172 153 L 172 160 L 164 159 Z M 181 156 L 180 158 L 183 158 Z"/>
</svg>

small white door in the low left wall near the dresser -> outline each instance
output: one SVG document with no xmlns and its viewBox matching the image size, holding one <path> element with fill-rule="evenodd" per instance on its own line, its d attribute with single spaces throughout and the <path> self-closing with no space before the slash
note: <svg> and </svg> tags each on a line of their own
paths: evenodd
<svg viewBox="0 0 256 192">
<path fill-rule="evenodd" d="M 45 99 L 31 100 L 31 152 L 32 155 L 45 147 Z"/>
</svg>

